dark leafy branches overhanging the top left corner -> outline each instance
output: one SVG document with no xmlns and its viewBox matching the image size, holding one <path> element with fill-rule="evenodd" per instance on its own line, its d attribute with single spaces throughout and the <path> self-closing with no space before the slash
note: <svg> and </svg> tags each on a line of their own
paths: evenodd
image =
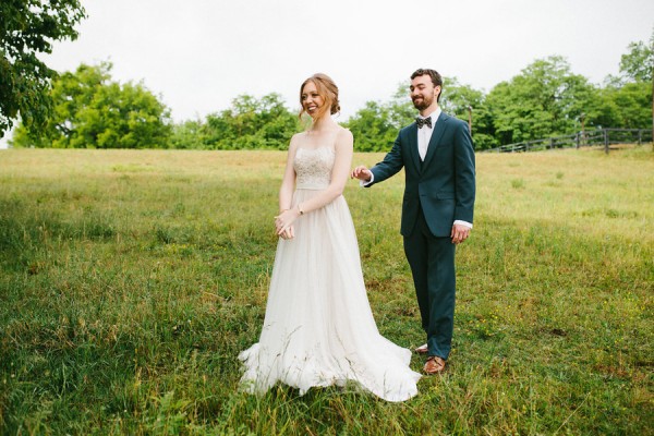
<svg viewBox="0 0 654 436">
<path fill-rule="evenodd" d="M 52 52 L 56 40 L 76 39 L 86 16 L 78 0 L 0 2 L 0 137 L 20 116 L 33 129 L 49 114 L 49 89 L 57 73 L 37 53 Z"/>
</svg>

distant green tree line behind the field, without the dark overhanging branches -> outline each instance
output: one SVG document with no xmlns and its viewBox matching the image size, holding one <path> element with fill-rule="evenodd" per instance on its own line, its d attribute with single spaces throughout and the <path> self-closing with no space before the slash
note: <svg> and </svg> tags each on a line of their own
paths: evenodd
<svg viewBox="0 0 654 436">
<path fill-rule="evenodd" d="M 3 3 L 4 4 L 4 3 Z M 2 5 L 4 8 L 4 5 Z M 446 77 L 440 106 L 471 121 L 475 148 L 547 136 L 583 128 L 652 126 L 652 43 L 633 43 L 622 56 L 620 75 L 604 86 L 574 74 L 565 58 L 538 59 L 489 93 Z M 16 146 L 194 149 L 286 149 L 290 137 L 307 124 L 279 94 L 261 98 L 240 95 L 228 109 L 204 120 L 169 123 L 168 109 L 142 84 L 111 81 L 111 65 L 81 65 L 53 81 L 44 101 L 53 101 L 49 118 L 34 123 L 23 117 Z M 46 105 L 44 102 L 44 105 Z M 45 112 L 44 112 L 45 113 Z M 386 101 L 367 101 L 342 124 L 354 135 L 359 152 L 390 149 L 399 130 L 416 111 L 407 83 Z"/>
</svg>

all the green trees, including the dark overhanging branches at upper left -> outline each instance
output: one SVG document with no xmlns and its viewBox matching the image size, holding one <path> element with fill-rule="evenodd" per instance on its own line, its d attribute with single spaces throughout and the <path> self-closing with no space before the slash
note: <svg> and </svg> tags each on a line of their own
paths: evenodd
<svg viewBox="0 0 654 436">
<path fill-rule="evenodd" d="M 49 52 L 48 40 L 74 39 L 85 12 L 77 0 L 41 3 L 0 7 L 3 17 L 12 17 L 0 33 L 0 134 L 20 119 L 14 147 L 286 149 L 306 126 L 276 93 L 240 95 L 225 110 L 175 123 L 143 83 L 114 81 L 111 63 L 58 74 L 35 53 Z M 647 44 L 630 44 L 619 75 L 602 85 L 573 73 L 559 56 L 534 61 L 488 93 L 445 77 L 441 107 L 471 123 L 480 150 L 582 129 L 651 129 L 653 47 L 654 34 Z M 414 116 L 403 83 L 341 124 L 352 131 L 356 150 L 383 152 Z"/>
</svg>

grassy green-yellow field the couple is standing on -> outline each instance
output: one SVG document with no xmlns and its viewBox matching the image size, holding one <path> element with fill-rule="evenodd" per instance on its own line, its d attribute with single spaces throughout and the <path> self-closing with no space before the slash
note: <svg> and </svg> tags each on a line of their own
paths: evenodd
<svg viewBox="0 0 654 436">
<path fill-rule="evenodd" d="M 400 404 L 238 390 L 284 158 L 1 150 L 0 433 L 654 434 L 651 147 L 477 155 L 449 370 Z M 402 190 L 346 197 L 379 330 L 414 347 Z"/>
</svg>

